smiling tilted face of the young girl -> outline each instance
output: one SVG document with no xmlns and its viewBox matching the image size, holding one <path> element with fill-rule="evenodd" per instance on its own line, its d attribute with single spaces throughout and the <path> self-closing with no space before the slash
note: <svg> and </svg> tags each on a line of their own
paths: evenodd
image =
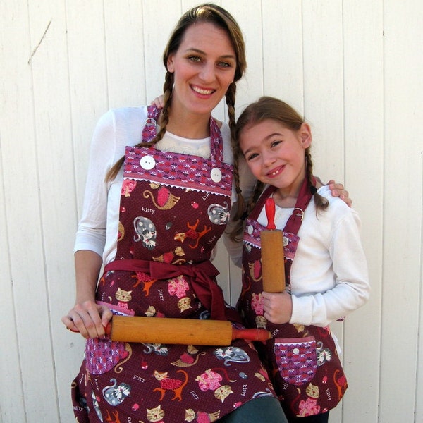
<svg viewBox="0 0 423 423">
<path fill-rule="evenodd" d="M 298 195 L 305 178 L 305 149 L 312 143 L 307 123 L 293 131 L 278 121 L 266 119 L 247 125 L 239 142 L 258 180 L 279 188 L 282 197 Z"/>
</svg>

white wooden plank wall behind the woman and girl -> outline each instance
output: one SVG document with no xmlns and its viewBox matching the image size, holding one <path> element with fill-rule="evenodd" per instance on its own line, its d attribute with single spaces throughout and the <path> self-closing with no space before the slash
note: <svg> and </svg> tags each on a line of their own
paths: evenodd
<svg viewBox="0 0 423 423">
<path fill-rule="evenodd" d="M 421 423 L 423 3 L 218 3 L 247 43 L 238 111 L 269 94 L 304 113 L 316 173 L 344 182 L 362 217 L 372 298 L 334 325 L 350 387 L 331 423 Z M 92 130 L 107 109 L 160 94 L 161 53 L 195 4 L 0 0 L 2 423 L 73 421 L 83 342 L 60 318 Z M 217 262 L 235 302 L 240 271 L 223 247 Z"/>
</svg>

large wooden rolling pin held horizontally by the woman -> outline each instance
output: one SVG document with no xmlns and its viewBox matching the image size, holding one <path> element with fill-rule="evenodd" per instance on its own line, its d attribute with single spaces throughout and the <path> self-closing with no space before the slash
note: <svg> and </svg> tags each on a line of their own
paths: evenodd
<svg viewBox="0 0 423 423">
<path fill-rule="evenodd" d="M 266 341 L 265 329 L 234 329 L 230 321 L 114 316 L 106 326 L 112 341 L 180 345 L 231 345 L 233 339 Z"/>
</svg>

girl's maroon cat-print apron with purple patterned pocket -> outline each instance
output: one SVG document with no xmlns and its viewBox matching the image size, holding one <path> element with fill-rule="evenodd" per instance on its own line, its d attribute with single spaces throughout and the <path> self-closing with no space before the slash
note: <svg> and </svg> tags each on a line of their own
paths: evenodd
<svg viewBox="0 0 423 423">
<path fill-rule="evenodd" d="M 274 190 L 274 187 L 269 187 L 263 193 L 246 221 L 243 246 L 243 290 L 238 301 L 238 309 L 243 314 L 247 327 L 265 328 L 273 334 L 266 345 L 257 343 L 257 350 L 271 374 L 275 391 L 286 416 L 288 418 L 306 417 L 327 412 L 335 407 L 345 393 L 347 381 L 329 327 L 272 324 L 263 316 L 260 232 L 265 228 L 257 222 L 257 218 L 266 198 Z M 309 198 L 300 199 L 300 192 L 294 212 L 298 212 L 299 209 L 305 210 L 307 207 L 311 198 L 311 194 L 307 191 L 309 188 L 305 180 L 301 192 L 305 192 Z M 288 292 L 290 291 L 290 266 L 300 240 L 296 233 L 302 216 L 293 214 L 292 218 L 297 220 L 297 223 L 288 221 L 289 226 L 287 223 L 283 229 Z"/>
</svg>

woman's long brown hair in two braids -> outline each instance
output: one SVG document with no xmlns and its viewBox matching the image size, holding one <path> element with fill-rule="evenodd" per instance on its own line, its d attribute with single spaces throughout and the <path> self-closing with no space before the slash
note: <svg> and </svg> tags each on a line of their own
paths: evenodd
<svg viewBox="0 0 423 423">
<path fill-rule="evenodd" d="M 171 105 L 174 80 L 173 73 L 167 70 L 168 58 L 171 54 L 178 51 L 180 44 L 183 41 L 185 31 L 188 29 L 188 27 L 198 22 L 212 23 L 213 25 L 216 25 L 216 27 L 219 27 L 226 31 L 229 39 L 231 39 L 231 42 L 233 44 L 233 49 L 235 50 L 235 78 L 231 85 L 229 85 L 228 90 L 225 94 L 226 104 L 228 106 L 228 125 L 231 129 L 231 144 L 235 145 L 236 82 L 243 77 L 245 69 L 247 68 L 247 61 L 245 59 L 245 42 L 240 27 L 238 26 L 238 23 L 236 23 L 233 16 L 231 16 L 231 14 L 224 8 L 221 8 L 216 4 L 206 3 L 200 4 L 200 6 L 191 8 L 189 11 L 185 12 L 176 24 L 176 27 L 173 30 L 170 39 L 168 40 L 168 44 L 166 45 L 163 54 L 163 63 L 164 67 L 166 68 L 166 75 L 163 85 L 164 107 L 161 111 L 161 127 L 156 137 L 153 138 L 153 140 L 151 140 L 150 142 L 140 142 L 137 147 L 141 145 L 143 147 L 149 147 L 150 145 L 154 145 L 159 142 L 163 138 L 164 133 L 166 133 L 166 127 L 169 121 L 169 107 Z M 113 180 L 114 178 L 116 178 L 116 175 L 118 174 L 118 171 L 121 168 L 124 159 L 125 157 L 122 157 L 114 164 L 114 166 L 111 167 L 110 171 L 106 175 L 106 180 Z"/>
</svg>

